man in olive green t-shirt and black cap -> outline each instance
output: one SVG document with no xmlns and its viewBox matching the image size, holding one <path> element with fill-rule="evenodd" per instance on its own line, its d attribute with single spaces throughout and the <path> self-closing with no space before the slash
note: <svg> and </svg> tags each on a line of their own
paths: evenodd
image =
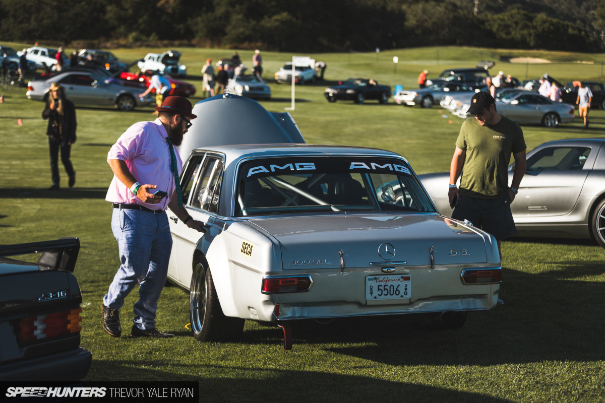
<svg viewBox="0 0 605 403">
<path fill-rule="evenodd" d="M 488 92 L 477 92 L 466 113 L 475 117 L 462 123 L 450 166 L 448 196 L 451 207 L 456 206 L 452 218 L 468 219 L 492 234 L 500 250 L 500 240 L 517 232 L 510 204 L 525 174 L 525 139 L 517 123 L 498 114 Z M 511 153 L 515 169 L 509 187 Z M 460 173 L 459 190 L 456 182 Z"/>
</svg>

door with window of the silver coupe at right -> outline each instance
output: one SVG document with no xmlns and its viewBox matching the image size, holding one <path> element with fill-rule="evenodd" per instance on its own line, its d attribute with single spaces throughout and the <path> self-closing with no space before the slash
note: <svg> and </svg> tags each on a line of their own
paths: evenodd
<svg viewBox="0 0 605 403">
<path fill-rule="evenodd" d="M 594 166 L 597 151 L 590 147 L 553 146 L 532 153 L 519 193 L 511 204 L 515 219 L 531 222 L 531 218 L 569 213 Z"/>
</svg>

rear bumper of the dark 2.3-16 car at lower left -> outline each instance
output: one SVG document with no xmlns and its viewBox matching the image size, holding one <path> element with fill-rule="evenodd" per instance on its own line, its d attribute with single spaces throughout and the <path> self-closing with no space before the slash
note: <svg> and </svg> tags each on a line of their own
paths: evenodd
<svg viewBox="0 0 605 403">
<path fill-rule="evenodd" d="M 0 381 L 77 381 L 93 361 L 90 351 L 78 347 L 51 355 L 0 364 Z"/>
</svg>

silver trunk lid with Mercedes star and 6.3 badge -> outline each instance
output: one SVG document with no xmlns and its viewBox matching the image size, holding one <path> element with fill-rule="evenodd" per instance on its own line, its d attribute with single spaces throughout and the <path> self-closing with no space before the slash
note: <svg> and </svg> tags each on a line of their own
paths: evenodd
<svg viewBox="0 0 605 403">
<path fill-rule="evenodd" d="M 485 263 L 489 236 L 473 227 L 437 215 L 344 215 L 284 219 L 252 219 L 281 245 L 284 269 L 381 267 Z M 382 243 L 395 251 L 392 259 L 379 255 Z M 384 265 L 381 263 L 384 262 Z"/>
</svg>

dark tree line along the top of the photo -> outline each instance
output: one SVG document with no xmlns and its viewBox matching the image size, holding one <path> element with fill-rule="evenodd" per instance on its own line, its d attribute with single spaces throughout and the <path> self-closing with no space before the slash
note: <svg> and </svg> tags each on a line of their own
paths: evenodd
<svg viewBox="0 0 605 403">
<path fill-rule="evenodd" d="M 0 0 L 3 40 L 275 51 L 603 51 L 605 0 Z"/>
</svg>

